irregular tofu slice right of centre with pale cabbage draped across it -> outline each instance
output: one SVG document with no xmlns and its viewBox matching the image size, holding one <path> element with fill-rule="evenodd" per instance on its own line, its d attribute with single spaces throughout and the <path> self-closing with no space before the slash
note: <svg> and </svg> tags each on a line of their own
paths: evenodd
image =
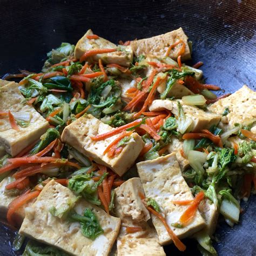
<svg viewBox="0 0 256 256">
<path fill-rule="evenodd" d="M 172 109 L 170 107 L 170 102 L 172 103 Z M 185 115 L 193 120 L 193 124 L 190 129 L 192 132 L 198 132 L 202 129 L 210 129 L 212 125 L 217 125 L 220 122 L 221 114 L 211 111 L 204 111 L 196 106 L 185 105 L 183 104 L 182 100 L 180 100 L 180 104 L 183 107 Z M 155 107 L 156 105 L 158 108 Z M 156 109 L 167 109 L 176 116 L 179 114 L 177 100 L 156 99 L 153 100 L 152 104 L 149 106 L 149 109 L 150 111 L 157 111 Z"/>
</svg>

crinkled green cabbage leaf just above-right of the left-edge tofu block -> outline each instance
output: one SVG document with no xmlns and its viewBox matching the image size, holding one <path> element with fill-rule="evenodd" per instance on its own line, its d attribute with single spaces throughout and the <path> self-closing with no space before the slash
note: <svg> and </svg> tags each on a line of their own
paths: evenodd
<svg viewBox="0 0 256 256">
<path fill-rule="evenodd" d="M 24 88 L 19 89 L 26 99 L 43 95 L 48 91 L 48 89 L 42 83 L 31 78 L 28 78 L 27 80 L 28 84 L 26 84 Z"/>
</svg>

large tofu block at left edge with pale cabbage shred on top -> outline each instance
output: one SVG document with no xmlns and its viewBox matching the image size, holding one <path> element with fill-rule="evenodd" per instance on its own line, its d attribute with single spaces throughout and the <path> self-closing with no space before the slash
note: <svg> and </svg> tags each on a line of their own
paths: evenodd
<svg viewBox="0 0 256 256">
<path fill-rule="evenodd" d="M 16 119 L 23 116 L 30 119 L 27 127 L 19 127 L 19 131 L 11 128 L 9 117 L 0 119 L 0 145 L 11 156 L 16 156 L 26 146 L 38 140 L 49 128 L 49 123 L 32 106 L 24 103 L 25 98 L 15 82 L 0 87 L 0 110 L 9 110 Z"/>
</svg>

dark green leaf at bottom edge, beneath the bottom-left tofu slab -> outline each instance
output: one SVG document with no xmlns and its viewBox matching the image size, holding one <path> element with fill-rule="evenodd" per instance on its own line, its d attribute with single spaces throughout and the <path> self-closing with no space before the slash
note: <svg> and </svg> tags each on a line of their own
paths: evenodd
<svg viewBox="0 0 256 256">
<path fill-rule="evenodd" d="M 68 256 L 69 254 L 56 247 L 41 244 L 35 240 L 29 240 L 26 244 L 23 256 Z"/>
</svg>

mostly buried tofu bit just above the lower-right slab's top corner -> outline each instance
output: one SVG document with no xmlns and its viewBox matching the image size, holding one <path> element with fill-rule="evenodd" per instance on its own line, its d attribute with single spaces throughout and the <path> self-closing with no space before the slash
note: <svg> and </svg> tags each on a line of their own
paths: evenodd
<svg viewBox="0 0 256 256">
<path fill-rule="evenodd" d="M 171 143 L 168 145 L 168 151 L 170 153 L 176 153 L 180 170 L 183 172 L 190 166 L 190 163 L 188 163 L 188 160 L 181 155 L 181 149 L 183 149 L 183 141 L 178 140 L 178 138 L 175 136 L 172 136 Z"/>
</svg>

